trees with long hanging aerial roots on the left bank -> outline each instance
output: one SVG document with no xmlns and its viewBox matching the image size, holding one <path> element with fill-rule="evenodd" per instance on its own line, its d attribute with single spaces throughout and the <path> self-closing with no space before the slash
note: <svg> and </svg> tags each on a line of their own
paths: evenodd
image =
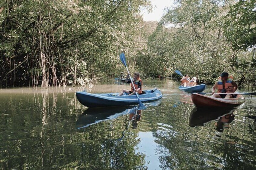
<svg viewBox="0 0 256 170">
<path fill-rule="evenodd" d="M 149 1 L 6 1 L 0 85 L 75 85 L 110 75 L 120 51 L 136 53 L 140 47 L 130 44 L 138 43 L 133 42 L 141 7 Z"/>
</svg>

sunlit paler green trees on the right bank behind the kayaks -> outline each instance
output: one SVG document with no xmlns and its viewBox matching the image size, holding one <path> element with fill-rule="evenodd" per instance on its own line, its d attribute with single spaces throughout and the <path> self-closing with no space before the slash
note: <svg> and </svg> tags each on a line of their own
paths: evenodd
<svg viewBox="0 0 256 170">
<path fill-rule="evenodd" d="M 214 83 L 221 72 L 227 71 L 239 85 L 253 82 L 255 49 L 234 51 L 229 45 L 231 40 L 223 34 L 227 18 L 232 14 L 231 9 L 225 16 L 230 10 L 226 4 L 234 1 L 185 0 L 176 3 L 175 7 L 166 10 L 155 31 L 145 36 L 148 38 L 147 49 L 139 54 L 143 71 L 152 77 L 166 77 L 178 69 L 204 83 Z M 253 7 L 252 2 L 246 4 L 250 4 L 250 9 Z M 237 4 L 234 6 L 238 8 Z M 243 14 L 246 12 L 242 11 L 241 16 Z M 247 27 L 255 28 L 253 22 L 255 20 L 244 21 L 244 27 L 248 24 Z M 255 29 L 247 31 L 253 34 Z"/>
</svg>

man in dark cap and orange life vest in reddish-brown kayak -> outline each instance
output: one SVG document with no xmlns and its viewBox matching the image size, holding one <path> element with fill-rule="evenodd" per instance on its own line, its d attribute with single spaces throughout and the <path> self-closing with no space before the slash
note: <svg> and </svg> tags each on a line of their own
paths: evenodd
<svg viewBox="0 0 256 170">
<path fill-rule="evenodd" d="M 229 76 L 229 73 L 223 72 L 221 73 L 218 81 L 212 87 L 212 96 L 217 98 L 235 98 L 234 94 L 216 94 L 215 89 L 218 89 L 218 93 L 234 93 L 237 89 L 238 85 L 233 81 L 233 77 Z"/>
</svg>

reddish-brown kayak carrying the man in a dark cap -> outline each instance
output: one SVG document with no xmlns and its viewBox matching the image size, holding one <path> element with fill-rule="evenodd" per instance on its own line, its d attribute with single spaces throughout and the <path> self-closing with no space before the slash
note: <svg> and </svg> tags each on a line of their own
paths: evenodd
<svg viewBox="0 0 256 170">
<path fill-rule="evenodd" d="M 236 98 L 232 99 L 222 99 L 216 97 L 210 97 L 203 94 L 191 94 L 192 102 L 196 107 L 223 107 L 223 108 L 232 108 L 239 106 L 245 102 L 245 98 L 238 94 Z"/>
</svg>

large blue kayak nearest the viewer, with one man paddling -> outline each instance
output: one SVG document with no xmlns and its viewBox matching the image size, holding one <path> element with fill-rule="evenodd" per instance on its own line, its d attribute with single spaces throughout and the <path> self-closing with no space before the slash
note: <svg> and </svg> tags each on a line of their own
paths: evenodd
<svg viewBox="0 0 256 170">
<path fill-rule="evenodd" d="M 162 93 L 157 88 L 154 90 L 145 90 L 145 94 L 140 94 L 139 99 L 144 102 L 154 101 L 162 98 Z M 87 107 L 110 107 L 110 106 L 128 106 L 137 105 L 138 98 L 136 95 L 128 96 L 126 93 L 117 96 L 119 93 L 92 94 L 86 91 L 77 91 L 78 101 Z"/>
</svg>

